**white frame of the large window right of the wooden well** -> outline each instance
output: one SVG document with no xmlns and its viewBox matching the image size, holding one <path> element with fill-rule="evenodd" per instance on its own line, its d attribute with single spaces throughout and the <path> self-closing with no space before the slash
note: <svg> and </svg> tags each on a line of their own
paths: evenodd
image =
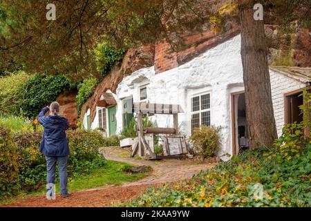
<svg viewBox="0 0 311 221">
<path fill-rule="evenodd" d="M 209 111 L 209 117 L 210 117 L 210 125 L 211 125 L 211 119 L 212 119 L 212 106 L 211 106 L 211 90 L 195 90 L 196 93 L 190 93 L 189 96 L 188 96 L 188 104 L 189 104 L 189 135 L 191 135 L 192 133 L 192 125 L 191 125 L 191 119 L 192 119 L 192 115 L 198 113 L 199 114 L 199 127 L 201 128 L 201 125 L 202 125 L 202 119 L 201 119 L 201 114 L 202 112 L 206 112 L 206 111 Z M 204 110 L 201 110 L 201 95 L 209 95 L 209 108 L 207 109 L 204 109 Z M 199 97 L 199 107 L 200 107 L 200 110 L 199 111 L 192 111 L 192 98 L 193 97 Z"/>
</svg>

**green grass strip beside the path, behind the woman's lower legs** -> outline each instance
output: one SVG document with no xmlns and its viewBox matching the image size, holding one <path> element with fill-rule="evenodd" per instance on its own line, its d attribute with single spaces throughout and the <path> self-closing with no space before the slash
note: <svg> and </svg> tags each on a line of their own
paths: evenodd
<svg viewBox="0 0 311 221">
<path fill-rule="evenodd" d="M 107 160 L 105 166 L 94 169 L 94 171 L 88 175 L 76 177 L 75 179 L 69 178 L 68 191 L 72 192 L 93 189 L 96 187 L 119 186 L 125 182 L 133 182 L 147 176 L 147 173 L 125 173 L 124 171 L 122 171 L 124 166 L 130 166 L 130 164 Z M 59 182 L 57 182 L 55 186 L 56 192 L 59 193 Z M 42 189 L 39 191 L 34 191 L 31 193 L 21 193 L 14 198 L 8 198 L 6 200 L 0 201 L 0 204 L 8 204 L 10 202 L 22 200 L 24 198 L 44 194 L 45 186 L 42 186 Z"/>
</svg>

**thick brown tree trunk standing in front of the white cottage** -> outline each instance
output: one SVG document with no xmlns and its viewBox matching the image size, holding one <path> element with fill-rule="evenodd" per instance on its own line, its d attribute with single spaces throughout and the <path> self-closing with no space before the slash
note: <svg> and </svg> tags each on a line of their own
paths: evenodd
<svg viewBox="0 0 311 221">
<path fill-rule="evenodd" d="M 263 21 L 253 17 L 254 0 L 238 0 L 241 55 L 250 148 L 272 146 L 277 138 Z"/>
</svg>

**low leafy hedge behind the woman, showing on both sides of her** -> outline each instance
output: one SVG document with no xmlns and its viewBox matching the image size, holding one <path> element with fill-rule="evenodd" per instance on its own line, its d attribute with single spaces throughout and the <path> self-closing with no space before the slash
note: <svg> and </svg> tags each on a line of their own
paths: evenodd
<svg viewBox="0 0 311 221">
<path fill-rule="evenodd" d="M 15 193 L 12 189 L 41 189 L 46 183 L 46 160 L 39 153 L 42 133 L 28 131 L 11 135 L 10 130 L 0 126 L 0 135 L 0 188 L 3 189 L 0 198 Z M 67 137 L 70 148 L 68 177 L 88 174 L 106 163 L 98 151 L 106 144 L 102 135 L 95 131 L 67 131 Z"/>
</svg>

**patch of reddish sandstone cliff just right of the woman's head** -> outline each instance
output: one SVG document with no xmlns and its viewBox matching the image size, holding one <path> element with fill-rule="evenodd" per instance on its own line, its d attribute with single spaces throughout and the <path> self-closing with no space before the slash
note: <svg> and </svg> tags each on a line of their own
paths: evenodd
<svg viewBox="0 0 311 221">
<path fill-rule="evenodd" d="M 60 115 L 66 117 L 71 127 L 77 126 L 77 90 L 65 90 L 59 94 L 56 101 L 60 104 Z"/>
</svg>

